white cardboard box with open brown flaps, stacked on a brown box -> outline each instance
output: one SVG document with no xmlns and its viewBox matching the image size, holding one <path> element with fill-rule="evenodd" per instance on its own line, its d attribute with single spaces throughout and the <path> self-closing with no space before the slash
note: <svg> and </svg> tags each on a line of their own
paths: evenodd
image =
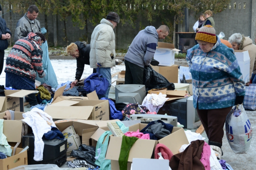
<svg viewBox="0 0 256 170">
<path fill-rule="evenodd" d="M 175 51 L 181 51 L 174 48 L 174 44 L 158 42 L 154 59 L 159 62 L 159 66 L 174 65 Z"/>
</svg>

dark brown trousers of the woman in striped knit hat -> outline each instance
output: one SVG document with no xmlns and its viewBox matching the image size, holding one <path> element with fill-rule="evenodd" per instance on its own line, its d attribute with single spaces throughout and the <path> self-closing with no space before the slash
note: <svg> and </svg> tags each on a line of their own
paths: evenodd
<svg viewBox="0 0 256 170">
<path fill-rule="evenodd" d="M 222 138 L 224 135 L 223 126 L 231 108 L 232 107 L 226 107 L 209 110 L 199 110 L 197 108 L 198 116 L 203 124 L 209 142 L 211 141 L 211 143 L 215 143 L 216 146 L 220 148 L 222 146 Z"/>
</svg>

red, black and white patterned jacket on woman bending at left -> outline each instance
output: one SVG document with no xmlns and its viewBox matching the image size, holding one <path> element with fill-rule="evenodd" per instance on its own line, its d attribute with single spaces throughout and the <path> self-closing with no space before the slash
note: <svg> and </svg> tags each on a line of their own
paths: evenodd
<svg viewBox="0 0 256 170">
<path fill-rule="evenodd" d="M 4 71 L 12 72 L 35 81 L 45 76 L 42 64 L 43 51 L 39 47 L 41 38 L 30 32 L 27 37 L 19 39 L 14 44 L 9 56 L 6 58 Z"/>
</svg>

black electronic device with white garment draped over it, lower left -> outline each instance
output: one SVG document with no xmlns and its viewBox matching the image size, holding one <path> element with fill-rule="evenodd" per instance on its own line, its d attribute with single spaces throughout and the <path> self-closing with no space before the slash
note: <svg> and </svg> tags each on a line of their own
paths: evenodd
<svg viewBox="0 0 256 170">
<path fill-rule="evenodd" d="M 68 143 L 67 138 L 60 139 L 51 139 L 47 140 L 43 137 L 44 142 L 44 151 L 43 151 L 43 160 L 35 161 L 34 158 L 34 135 L 26 134 L 22 137 L 22 147 L 29 147 L 28 149 L 28 165 L 35 164 L 55 164 L 58 167 L 62 166 L 67 162 L 67 149 Z"/>
</svg>

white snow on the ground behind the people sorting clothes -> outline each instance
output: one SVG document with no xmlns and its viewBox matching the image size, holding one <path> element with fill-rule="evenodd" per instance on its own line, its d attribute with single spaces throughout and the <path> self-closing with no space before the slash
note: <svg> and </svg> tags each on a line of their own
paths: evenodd
<svg viewBox="0 0 256 170">
<path fill-rule="evenodd" d="M 6 52 L 8 53 L 9 52 Z M 53 69 L 55 71 L 58 84 L 65 83 L 67 81 L 74 81 L 75 80 L 75 72 L 76 72 L 76 60 L 51 60 Z M 4 60 L 4 68 L 5 69 L 5 60 Z M 120 65 L 116 65 L 116 67 L 113 67 L 111 69 L 111 74 L 125 70 L 124 62 Z M 89 65 L 85 65 L 84 67 L 84 73 L 82 75 L 82 78 L 88 77 L 91 73 L 93 73 L 93 69 L 90 68 Z M 112 78 L 112 82 L 117 79 L 117 75 Z M 3 71 L 0 75 L 0 85 L 5 86 L 5 72 Z M 115 85 L 113 83 L 112 85 Z"/>
</svg>

